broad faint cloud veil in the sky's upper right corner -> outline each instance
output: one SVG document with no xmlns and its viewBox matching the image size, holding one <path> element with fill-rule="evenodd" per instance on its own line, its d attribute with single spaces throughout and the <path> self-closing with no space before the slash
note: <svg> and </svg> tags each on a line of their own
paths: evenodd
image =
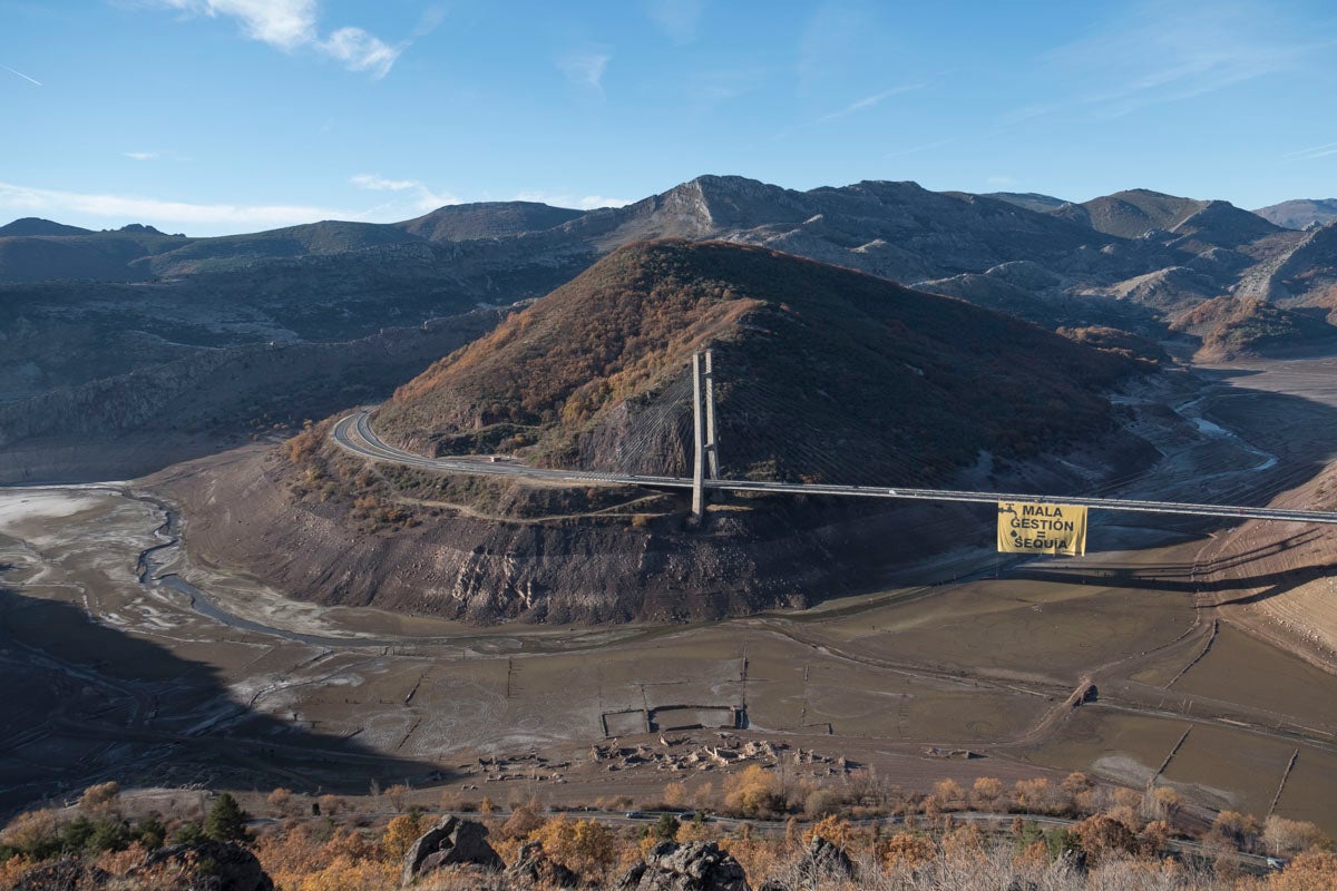
<svg viewBox="0 0 1337 891">
<path fill-rule="evenodd" d="M 1300 69 L 1306 57 L 1332 47 L 1271 4 L 1143 3 L 1103 23 L 1095 36 L 1040 59 L 1048 80 L 1063 84 L 1071 99 L 1015 108 L 1000 120 L 1019 124 L 1060 112 L 1120 118 Z"/>
</svg>

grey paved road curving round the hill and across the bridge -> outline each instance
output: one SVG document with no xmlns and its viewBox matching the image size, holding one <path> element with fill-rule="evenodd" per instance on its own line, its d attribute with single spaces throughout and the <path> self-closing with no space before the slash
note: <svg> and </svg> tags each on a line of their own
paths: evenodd
<svg viewBox="0 0 1337 891">
<path fill-rule="evenodd" d="M 548 482 L 608 484 L 647 486 L 652 489 L 691 489 L 691 480 L 683 477 L 647 477 L 622 473 L 595 473 L 590 470 L 559 470 L 554 468 L 531 468 L 519 461 L 487 457 L 427 458 L 412 452 L 389 446 L 372 430 L 370 409 L 362 409 L 341 418 L 333 427 L 334 442 L 353 454 L 373 461 L 401 464 L 424 470 L 445 473 L 468 473 L 489 477 L 523 477 Z M 953 489 L 901 489 L 884 486 L 841 486 L 800 482 L 762 482 L 755 480 L 706 480 L 706 489 L 727 492 L 769 492 L 781 494 L 852 496 L 858 498 L 905 498 L 910 501 L 967 501 L 976 504 L 996 504 L 999 501 L 1028 501 L 1039 504 L 1064 504 L 1102 510 L 1123 510 L 1132 513 L 1169 513 L 1197 517 L 1226 517 L 1231 520 L 1278 520 L 1288 522 L 1337 524 L 1337 512 L 1332 510 L 1286 510 L 1280 508 L 1249 508 L 1229 505 L 1182 504 L 1177 501 L 1131 501 L 1126 498 L 1087 498 L 1082 496 L 1036 496 L 1005 492 L 960 492 Z"/>
</svg>

